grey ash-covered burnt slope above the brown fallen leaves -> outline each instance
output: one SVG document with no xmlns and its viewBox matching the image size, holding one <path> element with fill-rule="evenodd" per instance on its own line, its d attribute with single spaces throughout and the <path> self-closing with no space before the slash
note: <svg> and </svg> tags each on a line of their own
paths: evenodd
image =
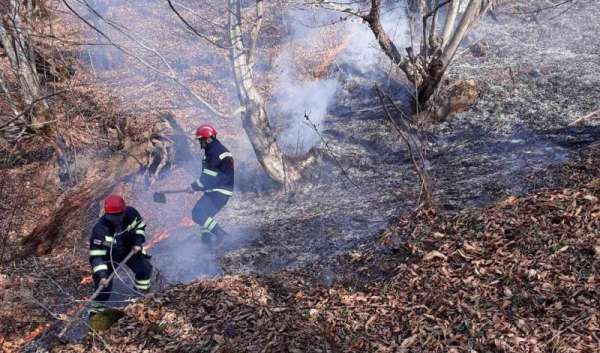
<svg viewBox="0 0 600 353">
<path fill-rule="evenodd" d="M 500 15 L 470 38 L 486 42 L 485 55 L 465 48 L 449 76 L 476 80 L 482 96 L 469 111 L 427 131 L 442 209 L 560 187 L 564 180 L 553 177 L 552 168 L 599 140 L 597 120 L 571 125 L 598 109 L 599 13 L 600 5 L 590 1 L 558 18 L 538 16 L 538 22 Z M 372 77 L 351 79 L 367 96 L 372 92 Z M 340 98 L 322 133 L 352 183 L 333 164 L 323 171 L 330 178 L 292 197 L 238 192 L 219 219 L 226 228 L 245 224 L 259 236 L 221 258 L 226 273 L 264 273 L 347 251 L 376 237 L 390 216 L 415 206 L 415 175 L 399 138 L 373 108 L 374 95 Z"/>
</svg>

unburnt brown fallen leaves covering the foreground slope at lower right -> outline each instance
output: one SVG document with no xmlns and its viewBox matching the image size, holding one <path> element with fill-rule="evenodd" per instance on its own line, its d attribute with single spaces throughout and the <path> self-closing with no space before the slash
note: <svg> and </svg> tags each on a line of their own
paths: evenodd
<svg viewBox="0 0 600 353">
<path fill-rule="evenodd" d="M 104 338 L 112 352 L 598 352 L 598 182 L 402 217 L 390 251 L 349 253 L 331 287 L 314 269 L 175 286 Z M 381 280 L 343 278 L 383 262 Z M 90 349 L 104 347 L 57 351 Z"/>
</svg>

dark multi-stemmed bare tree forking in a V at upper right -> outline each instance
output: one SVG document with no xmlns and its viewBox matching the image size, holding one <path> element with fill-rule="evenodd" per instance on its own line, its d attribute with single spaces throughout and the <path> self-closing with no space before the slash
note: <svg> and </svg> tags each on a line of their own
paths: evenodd
<svg viewBox="0 0 600 353">
<path fill-rule="evenodd" d="M 362 18 L 373 32 L 383 52 L 415 85 L 415 99 L 421 108 L 439 87 L 457 49 L 481 17 L 504 0 L 413 0 L 412 9 L 423 14 L 420 48 L 405 49 L 392 41 L 381 24 L 382 1 L 368 1 L 367 9 L 354 6 L 355 1 L 310 1 L 311 6 L 340 11 Z M 439 26 L 439 11 L 447 7 L 444 26 Z"/>
</svg>

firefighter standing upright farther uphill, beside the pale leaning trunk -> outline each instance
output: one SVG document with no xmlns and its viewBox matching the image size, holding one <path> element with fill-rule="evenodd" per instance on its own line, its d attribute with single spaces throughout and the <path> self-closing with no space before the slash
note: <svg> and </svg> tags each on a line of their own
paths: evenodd
<svg viewBox="0 0 600 353">
<path fill-rule="evenodd" d="M 191 185 L 191 192 L 204 191 L 192 209 L 192 219 L 202 227 L 205 244 L 220 245 L 227 233 L 214 219 L 233 195 L 233 156 L 217 140 L 217 130 L 208 124 L 196 130 L 196 139 L 204 149 L 202 175 Z"/>
</svg>

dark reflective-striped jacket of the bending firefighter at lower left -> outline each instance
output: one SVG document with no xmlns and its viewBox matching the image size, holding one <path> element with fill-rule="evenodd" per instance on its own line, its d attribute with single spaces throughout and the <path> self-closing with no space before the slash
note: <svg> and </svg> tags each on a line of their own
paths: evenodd
<svg viewBox="0 0 600 353">
<path fill-rule="evenodd" d="M 115 229 L 106 216 L 102 216 L 94 226 L 90 238 L 92 273 L 100 278 L 108 277 L 111 254 L 113 262 L 119 262 L 129 254 L 132 247 L 142 246 L 146 241 L 145 229 L 142 216 L 133 207 L 125 208 L 120 231 Z"/>
</svg>

